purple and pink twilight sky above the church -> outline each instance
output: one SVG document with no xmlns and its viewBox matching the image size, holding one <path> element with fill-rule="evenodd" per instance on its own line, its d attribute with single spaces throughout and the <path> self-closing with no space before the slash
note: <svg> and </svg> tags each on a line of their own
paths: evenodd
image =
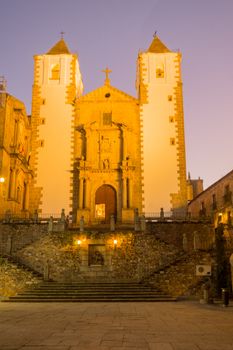
<svg viewBox="0 0 233 350">
<path fill-rule="evenodd" d="M 135 96 L 136 59 L 154 31 L 183 54 L 187 171 L 206 188 L 232 170 L 233 0 L 0 0 L 0 75 L 31 113 L 33 55 L 65 32 L 85 93 L 104 82 Z"/>
</svg>

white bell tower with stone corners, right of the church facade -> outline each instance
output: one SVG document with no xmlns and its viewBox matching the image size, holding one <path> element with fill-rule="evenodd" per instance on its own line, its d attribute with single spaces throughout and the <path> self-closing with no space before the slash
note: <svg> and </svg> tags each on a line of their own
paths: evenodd
<svg viewBox="0 0 233 350">
<path fill-rule="evenodd" d="M 137 90 L 143 123 L 145 212 L 183 214 L 187 204 L 181 53 L 157 35 L 140 52 Z"/>
</svg>

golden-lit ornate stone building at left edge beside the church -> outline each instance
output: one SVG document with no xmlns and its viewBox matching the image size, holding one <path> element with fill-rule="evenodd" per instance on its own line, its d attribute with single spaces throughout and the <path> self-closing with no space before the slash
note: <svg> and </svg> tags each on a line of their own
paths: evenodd
<svg viewBox="0 0 233 350">
<path fill-rule="evenodd" d="M 0 217 L 29 217 L 31 123 L 23 102 L 0 84 Z"/>
</svg>

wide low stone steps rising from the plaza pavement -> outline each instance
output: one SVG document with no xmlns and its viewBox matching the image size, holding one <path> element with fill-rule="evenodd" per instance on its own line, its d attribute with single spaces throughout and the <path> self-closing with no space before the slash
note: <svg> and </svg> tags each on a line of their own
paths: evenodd
<svg viewBox="0 0 233 350">
<path fill-rule="evenodd" d="M 4 302 L 168 302 L 176 301 L 159 290 L 133 282 L 43 282 Z"/>
</svg>

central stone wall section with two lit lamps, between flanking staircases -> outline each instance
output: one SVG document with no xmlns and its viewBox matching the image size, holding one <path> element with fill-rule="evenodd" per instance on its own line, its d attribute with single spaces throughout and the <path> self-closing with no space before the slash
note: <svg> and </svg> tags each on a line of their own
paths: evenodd
<svg viewBox="0 0 233 350">
<path fill-rule="evenodd" d="M 116 244 L 114 244 L 117 241 Z M 77 243 L 79 242 L 79 244 Z M 102 262 L 90 262 L 90 249 L 99 250 Z M 134 232 L 52 233 L 17 252 L 20 261 L 60 282 L 139 281 L 179 254 L 153 234 Z"/>
</svg>

